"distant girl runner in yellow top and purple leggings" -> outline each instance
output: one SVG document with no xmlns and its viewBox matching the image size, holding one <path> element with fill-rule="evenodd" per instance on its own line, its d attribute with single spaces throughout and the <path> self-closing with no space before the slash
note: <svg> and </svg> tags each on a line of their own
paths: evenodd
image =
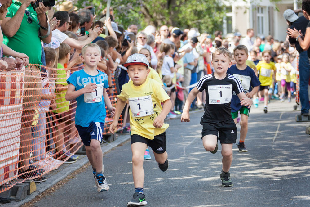
<svg viewBox="0 0 310 207">
<path fill-rule="evenodd" d="M 290 72 L 293 70 L 291 63 L 289 62 L 289 54 L 284 53 L 282 56 L 281 65 L 281 102 L 285 99 L 285 87 L 287 89 L 287 101 L 291 102 L 291 92 L 292 88 L 290 87 Z"/>
</svg>

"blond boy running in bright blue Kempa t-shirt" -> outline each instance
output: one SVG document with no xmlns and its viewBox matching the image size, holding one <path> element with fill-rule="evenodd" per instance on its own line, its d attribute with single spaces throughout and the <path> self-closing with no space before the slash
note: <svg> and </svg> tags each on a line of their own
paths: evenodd
<svg viewBox="0 0 310 207">
<path fill-rule="evenodd" d="M 82 48 L 82 60 L 85 67 L 75 71 L 68 79 L 69 87 L 65 99 L 76 99 L 77 109 L 75 126 L 85 145 L 86 155 L 93 168 L 97 191 L 107 191 L 109 186 L 103 175 L 101 139 L 106 117 L 105 106 L 113 117 L 115 108 L 111 105 L 106 92 L 108 88 L 107 74 L 97 70 L 101 61 L 100 47 L 89 43 Z"/>
</svg>

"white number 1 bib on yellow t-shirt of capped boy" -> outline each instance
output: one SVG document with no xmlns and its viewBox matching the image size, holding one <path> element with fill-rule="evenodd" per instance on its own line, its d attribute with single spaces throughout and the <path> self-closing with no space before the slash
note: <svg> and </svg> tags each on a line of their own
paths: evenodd
<svg viewBox="0 0 310 207">
<path fill-rule="evenodd" d="M 154 114 L 151 95 L 129 98 L 129 106 L 134 117 L 148 116 Z"/>
</svg>

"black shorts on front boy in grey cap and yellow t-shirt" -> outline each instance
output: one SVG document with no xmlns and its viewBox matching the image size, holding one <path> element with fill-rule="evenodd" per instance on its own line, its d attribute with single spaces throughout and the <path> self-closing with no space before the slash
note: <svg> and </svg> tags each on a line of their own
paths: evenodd
<svg viewBox="0 0 310 207">
<path fill-rule="evenodd" d="M 147 139 L 138 134 L 131 135 L 131 144 L 142 142 L 147 144 L 157 154 L 162 154 L 166 151 L 166 132 L 154 136 L 154 139 Z"/>
</svg>

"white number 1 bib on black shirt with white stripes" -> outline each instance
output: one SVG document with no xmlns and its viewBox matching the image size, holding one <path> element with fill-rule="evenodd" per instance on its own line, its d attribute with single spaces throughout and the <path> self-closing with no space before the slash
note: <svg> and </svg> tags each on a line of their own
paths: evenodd
<svg viewBox="0 0 310 207">
<path fill-rule="evenodd" d="M 208 86 L 209 104 L 229 103 L 232 99 L 232 84 Z"/>
</svg>

